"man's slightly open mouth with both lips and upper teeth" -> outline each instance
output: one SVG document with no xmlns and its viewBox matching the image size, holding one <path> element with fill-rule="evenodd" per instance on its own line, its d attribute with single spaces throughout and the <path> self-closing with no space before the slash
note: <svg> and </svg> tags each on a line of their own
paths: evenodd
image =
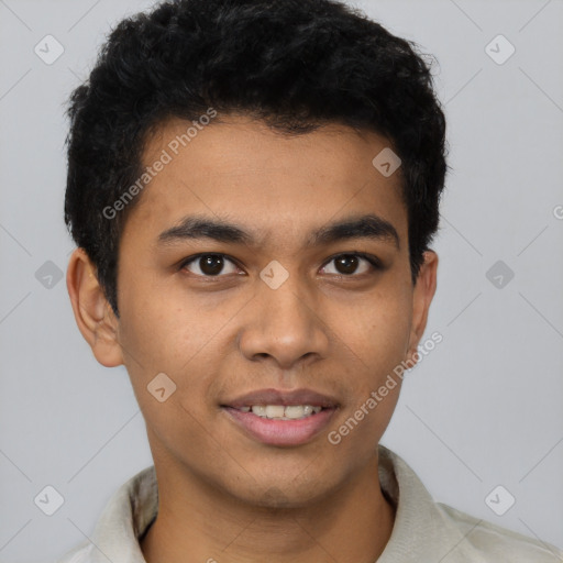
<svg viewBox="0 0 563 563">
<path fill-rule="evenodd" d="M 268 445 L 296 446 L 318 435 L 339 404 L 308 389 L 264 389 L 220 407 L 247 438 Z"/>
</svg>

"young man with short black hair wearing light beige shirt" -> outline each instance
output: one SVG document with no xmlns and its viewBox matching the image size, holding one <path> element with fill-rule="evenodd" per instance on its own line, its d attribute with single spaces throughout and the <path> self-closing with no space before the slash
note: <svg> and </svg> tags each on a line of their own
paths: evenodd
<svg viewBox="0 0 563 563">
<path fill-rule="evenodd" d="M 412 45 L 330 0 L 165 3 L 119 24 L 69 114 L 70 300 L 154 466 L 62 561 L 559 561 L 378 445 L 446 172 Z"/>
</svg>

